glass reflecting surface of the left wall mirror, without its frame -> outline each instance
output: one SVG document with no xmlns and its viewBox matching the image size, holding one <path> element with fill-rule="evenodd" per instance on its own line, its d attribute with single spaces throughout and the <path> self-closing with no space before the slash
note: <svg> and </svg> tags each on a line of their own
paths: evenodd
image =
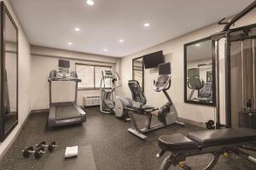
<svg viewBox="0 0 256 170">
<path fill-rule="evenodd" d="M 18 121 L 18 37 L 17 28 L 4 13 L 3 123 L 7 135 Z"/>
</svg>

